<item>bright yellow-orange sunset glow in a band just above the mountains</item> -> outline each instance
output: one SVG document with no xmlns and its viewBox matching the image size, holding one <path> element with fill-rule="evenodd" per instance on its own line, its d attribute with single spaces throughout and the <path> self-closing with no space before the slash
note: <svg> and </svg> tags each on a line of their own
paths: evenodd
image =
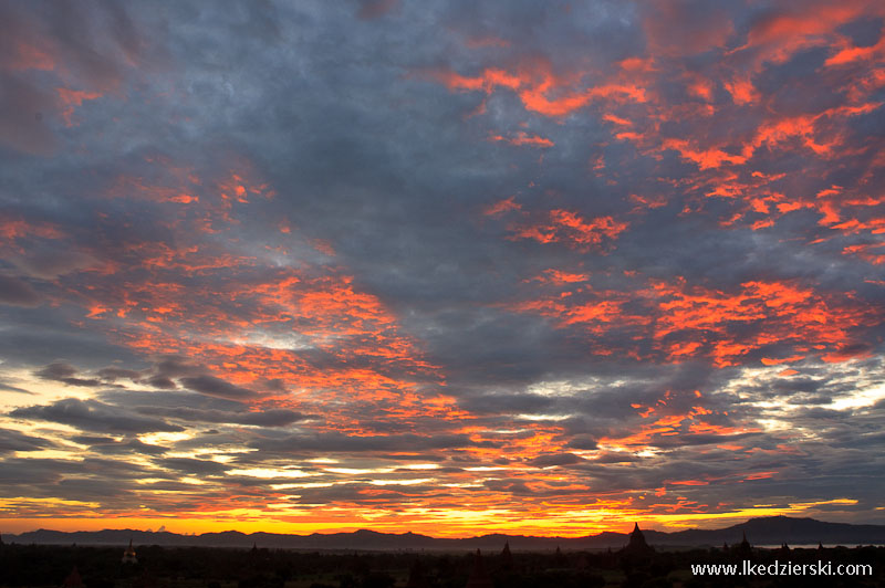
<svg viewBox="0 0 885 588">
<path fill-rule="evenodd" d="M 400 483 L 400 481 L 396 481 Z M 416 481 L 418 483 L 420 481 Z M 278 496 L 293 500 L 298 495 Z M 104 528 L 150 529 L 165 526 L 178 534 L 202 534 L 222 531 L 241 533 L 346 533 L 371 528 L 381 533 L 410 531 L 435 537 L 471 537 L 489 533 L 535 536 L 580 537 L 604 531 L 624 533 L 634 522 L 644 528 L 680 531 L 693 526 L 717 528 L 722 522 L 739 522 L 758 516 L 802 513 L 824 505 L 857 504 L 853 498 L 790 503 L 787 506 L 757 505 L 721 513 L 656 514 L 632 508 L 627 501 L 611 501 L 593 506 L 552 505 L 507 508 L 489 504 L 466 504 L 464 507 L 412 506 L 388 511 L 371 507 L 310 505 L 273 502 L 261 508 L 226 508 L 180 512 L 162 515 L 145 512 L 119 515 L 100 513 L 100 505 L 90 502 L 53 498 L 11 498 L 0 501 L 0 533 L 22 533 L 37 528 L 56 531 L 100 531 Z M 10 516 L 25 513 L 28 506 L 52 507 L 63 516 Z M 3 516 L 6 515 L 6 516 Z M 717 525 L 719 523 L 719 525 Z"/>
</svg>

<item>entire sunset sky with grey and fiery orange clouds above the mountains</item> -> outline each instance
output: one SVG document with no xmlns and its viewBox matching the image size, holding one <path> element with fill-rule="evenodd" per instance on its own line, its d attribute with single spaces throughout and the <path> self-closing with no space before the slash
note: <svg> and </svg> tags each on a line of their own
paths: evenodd
<svg viewBox="0 0 885 588">
<path fill-rule="evenodd" d="M 0 2 L 0 532 L 885 524 L 883 25 Z"/>
</svg>

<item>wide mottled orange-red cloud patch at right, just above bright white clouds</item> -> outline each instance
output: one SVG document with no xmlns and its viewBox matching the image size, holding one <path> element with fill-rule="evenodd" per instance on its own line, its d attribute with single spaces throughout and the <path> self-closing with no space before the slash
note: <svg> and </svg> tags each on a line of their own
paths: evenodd
<svg viewBox="0 0 885 588">
<path fill-rule="evenodd" d="M 508 307 L 552 318 L 559 328 L 594 335 L 596 354 L 632 355 L 631 347 L 624 347 L 628 342 L 652 340 L 654 350 L 636 355 L 637 359 L 680 363 L 706 357 L 718 367 L 741 365 L 748 355 L 771 346 L 794 353 L 782 359 L 763 357 L 764 365 L 799 361 L 809 355 L 850 359 L 865 329 L 883 319 L 873 306 L 851 296 L 777 281 L 746 282 L 737 291 L 725 292 L 689 286 L 683 279 L 652 280 L 629 291 L 584 287 L 568 297 L 553 294 Z M 622 336 L 625 332 L 632 334 L 627 343 Z M 611 340 L 606 335 L 613 335 Z M 854 355 L 864 353 L 860 348 Z"/>
</svg>

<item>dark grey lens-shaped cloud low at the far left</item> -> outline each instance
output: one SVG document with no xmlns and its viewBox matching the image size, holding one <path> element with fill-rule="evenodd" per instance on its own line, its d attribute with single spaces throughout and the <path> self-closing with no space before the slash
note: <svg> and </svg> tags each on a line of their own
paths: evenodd
<svg viewBox="0 0 885 588">
<path fill-rule="evenodd" d="M 37 419 L 69 424 L 82 431 L 147 433 L 184 431 L 183 427 L 159 419 L 133 414 L 97 400 L 65 398 L 51 405 L 18 408 L 9 413 L 17 419 Z"/>
</svg>

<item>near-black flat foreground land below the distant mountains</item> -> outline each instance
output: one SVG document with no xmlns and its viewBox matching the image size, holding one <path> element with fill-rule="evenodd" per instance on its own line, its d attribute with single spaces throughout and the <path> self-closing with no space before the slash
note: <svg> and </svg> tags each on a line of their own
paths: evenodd
<svg viewBox="0 0 885 588">
<path fill-rule="evenodd" d="M 0 546 L 0 587 L 18 588 L 602 588 L 885 586 L 885 547 L 678 552 L 308 553 L 284 549 L 135 546 Z M 873 576 L 693 576 L 691 565 L 832 561 Z"/>
</svg>

